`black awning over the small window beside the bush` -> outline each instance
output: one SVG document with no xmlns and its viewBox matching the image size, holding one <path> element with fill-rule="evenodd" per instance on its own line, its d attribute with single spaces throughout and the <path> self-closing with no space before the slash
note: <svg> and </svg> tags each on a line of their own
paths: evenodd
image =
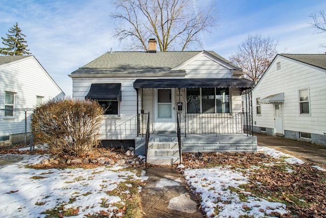
<svg viewBox="0 0 326 218">
<path fill-rule="evenodd" d="M 85 99 L 121 101 L 121 83 L 92 83 Z"/>
</svg>

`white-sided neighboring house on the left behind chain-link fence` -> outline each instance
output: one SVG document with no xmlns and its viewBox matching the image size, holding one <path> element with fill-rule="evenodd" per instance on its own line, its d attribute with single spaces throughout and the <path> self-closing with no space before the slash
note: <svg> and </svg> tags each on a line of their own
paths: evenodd
<svg viewBox="0 0 326 218">
<path fill-rule="evenodd" d="M 32 109 L 63 96 L 33 55 L 0 56 L 0 143 L 24 141 L 25 131 L 31 132 Z"/>
</svg>

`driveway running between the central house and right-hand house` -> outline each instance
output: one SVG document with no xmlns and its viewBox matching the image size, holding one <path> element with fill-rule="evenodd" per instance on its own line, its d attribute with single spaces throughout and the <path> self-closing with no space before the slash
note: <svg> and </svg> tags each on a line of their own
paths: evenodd
<svg viewBox="0 0 326 218">
<path fill-rule="evenodd" d="M 258 146 L 274 148 L 285 154 L 293 155 L 302 160 L 310 161 L 326 167 L 326 146 L 319 146 L 303 141 L 255 133 Z"/>
</svg>

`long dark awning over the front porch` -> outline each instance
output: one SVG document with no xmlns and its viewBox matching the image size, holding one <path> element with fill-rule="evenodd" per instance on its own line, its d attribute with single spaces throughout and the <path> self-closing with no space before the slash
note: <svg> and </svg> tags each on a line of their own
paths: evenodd
<svg viewBox="0 0 326 218">
<path fill-rule="evenodd" d="M 254 85 L 253 81 L 239 78 L 137 79 L 133 88 L 252 88 Z"/>
</svg>

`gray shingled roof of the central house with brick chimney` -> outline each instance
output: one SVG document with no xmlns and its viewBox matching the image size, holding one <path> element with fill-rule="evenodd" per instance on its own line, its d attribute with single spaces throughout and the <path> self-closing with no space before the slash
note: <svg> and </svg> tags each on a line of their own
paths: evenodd
<svg viewBox="0 0 326 218">
<path fill-rule="evenodd" d="M 117 74 L 117 73 L 155 73 L 176 72 L 172 68 L 199 54 L 197 52 L 107 52 L 90 63 L 73 71 L 71 74 Z M 240 69 L 215 52 L 208 52 L 214 57 Z M 184 72 L 184 70 L 177 71 Z"/>
</svg>

